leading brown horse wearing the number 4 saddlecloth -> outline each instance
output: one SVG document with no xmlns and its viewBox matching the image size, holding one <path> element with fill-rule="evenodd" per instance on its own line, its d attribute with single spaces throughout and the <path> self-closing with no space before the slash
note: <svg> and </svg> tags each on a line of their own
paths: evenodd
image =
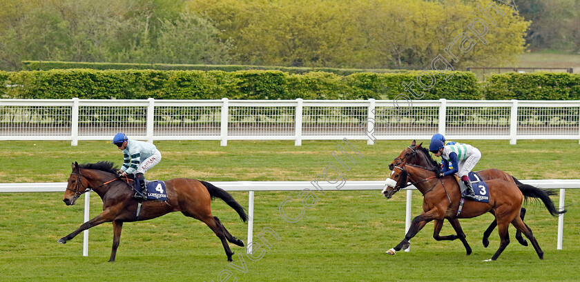
<svg viewBox="0 0 580 282">
<path fill-rule="evenodd" d="M 133 198 L 134 192 L 129 185 L 117 178 L 117 170 L 113 163 L 108 161 L 84 165 L 79 165 L 76 162 L 72 164 L 72 173 L 68 177 L 68 184 L 62 201 L 66 205 L 74 205 L 81 194 L 93 190 L 103 200 L 103 212 L 95 216 L 94 219 L 82 224 L 74 232 L 59 239 L 59 243 L 66 243 L 66 241 L 75 238 L 77 234 L 88 228 L 113 221 L 113 250 L 110 253 L 109 261 L 115 261 L 124 222 L 144 221 L 154 219 L 168 212 L 182 212 L 185 216 L 203 221 L 211 228 L 222 241 L 228 261 L 232 261 L 233 252 L 230 250 L 227 241 L 244 247 L 242 240 L 231 236 L 220 222 L 220 219 L 211 215 L 211 199 L 218 197 L 238 212 L 242 221 L 245 222 L 247 220 L 244 208 L 228 192 L 215 187 L 211 183 L 197 179 L 171 179 L 165 181 L 167 201 L 144 201 L 139 214 L 137 214 L 139 201 Z"/>
</svg>

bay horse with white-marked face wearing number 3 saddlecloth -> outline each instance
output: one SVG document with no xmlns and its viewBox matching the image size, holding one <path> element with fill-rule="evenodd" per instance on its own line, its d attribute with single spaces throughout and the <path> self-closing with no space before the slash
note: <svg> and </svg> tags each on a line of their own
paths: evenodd
<svg viewBox="0 0 580 282">
<path fill-rule="evenodd" d="M 532 234 L 532 230 L 523 223 L 523 220 L 519 216 L 521 203 L 525 197 L 530 197 L 529 195 L 535 195 L 536 197 L 544 197 L 544 193 L 538 188 L 531 185 L 524 188 L 523 193 L 520 188 L 517 187 L 515 183 L 508 182 L 502 179 L 490 179 L 485 181 L 487 183 L 487 188 L 490 194 L 490 202 L 482 203 L 479 201 L 465 201 L 463 205 L 463 211 L 457 216 L 457 211 L 459 208 L 459 203 L 461 200 L 461 190 L 454 176 L 447 176 L 443 178 L 438 178 L 439 170 L 432 170 L 428 168 L 423 168 L 418 165 L 411 165 L 405 162 L 394 167 L 391 177 L 387 179 L 387 186 L 383 190 L 385 197 L 390 198 L 398 190 L 405 188 L 407 186 L 407 179 L 412 182 L 420 192 L 423 194 L 423 212 L 416 216 L 411 227 L 405 234 L 405 239 L 398 243 L 394 248 L 387 251 L 387 254 L 394 255 L 396 251 L 402 248 L 408 248 L 409 240 L 412 239 L 429 221 L 443 222 L 443 219 L 451 219 L 454 229 L 458 232 L 461 238 L 465 239 L 465 234 L 461 230 L 461 226 L 458 221 L 454 219 L 468 219 L 486 212 L 490 212 L 495 216 L 498 232 L 501 239 L 498 250 L 492 256 L 491 259 L 487 261 L 495 261 L 501 252 L 510 243 L 510 238 L 508 236 L 508 227 L 510 223 L 514 227 L 521 231 L 530 240 L 534 246 L 534 250 L 538 254 L 540 259 L 543 259 L 543 251 L 541 250 L 538 242 Z M 542 196 L 539 196 L 542 195 Z M 542 199 L 545 207 L 550 211 L 550 214 L 556 215 L 566 212 L 557 211 L 554 207 L 554 203 L 548 199 Z M 548 203 L 548 204 L 547 204 Z M 437 225 L 437 224 L 436 224 Z M 441 230 L 441 227 L 439 227 Z M 435 230 L 438 233 L 437 227 Z"/>
</svg>

